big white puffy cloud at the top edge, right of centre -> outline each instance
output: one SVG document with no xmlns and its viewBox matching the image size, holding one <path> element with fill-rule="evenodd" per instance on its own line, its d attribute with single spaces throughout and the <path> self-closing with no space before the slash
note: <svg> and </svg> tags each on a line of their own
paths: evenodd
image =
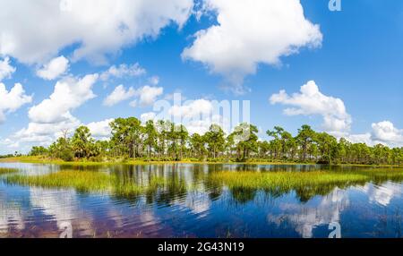
<svg viewBox="0 0 403 256">
<path fill-rule="evenodd" d="M 304 17 L 299 0 L 205 0 L 204 10 L 217 13 L 218 24 L 198 31 L 182 57 L 224 75 L 236 92 L 258 64 L 279 64 L 300 47 L 322 45 L 319 25 Z"/>
</svg>

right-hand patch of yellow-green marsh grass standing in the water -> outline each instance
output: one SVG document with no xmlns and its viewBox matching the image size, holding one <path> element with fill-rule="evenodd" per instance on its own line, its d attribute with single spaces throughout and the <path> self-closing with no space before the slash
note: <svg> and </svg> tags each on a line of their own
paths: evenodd
<svg viewBox="0 0 403 256">
<path fill-rule="evenodd" d="M 403 181 L 403 170 L 371 169 L 360 171 L 311 171 L 311 172 L 216 172 L 209 177 L 211 183 L 225 185 L 235 197 L 242 194 L 240 201 L 253 198 L 262 190 L 278 197 L 295 191 L 301 201 L 308 201 L 315 195 L 326 195 L 334 188 L 347 188 L 364 183 Z M 246 199 L 244 199 L 246 197 Z"/>
</svg>

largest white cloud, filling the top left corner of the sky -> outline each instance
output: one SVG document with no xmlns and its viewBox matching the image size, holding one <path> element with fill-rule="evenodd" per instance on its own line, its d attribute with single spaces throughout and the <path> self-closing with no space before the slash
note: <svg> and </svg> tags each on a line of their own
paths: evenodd
<svg viewBox="0 0 403 256">
<path fill-rule="evenodd" d="M 66 3 L 66 4 L 64 4 Z M 44 63 L 77 45 L 73 60 L 105 55 L 188 20 L 193 0 L 0 0 L 0 55 Z"/>
</svg>

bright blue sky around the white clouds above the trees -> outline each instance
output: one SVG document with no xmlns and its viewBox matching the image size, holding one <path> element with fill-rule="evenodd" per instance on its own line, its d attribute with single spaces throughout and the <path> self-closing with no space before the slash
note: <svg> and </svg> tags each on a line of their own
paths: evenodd
<svg viewBox="0 0 403 256">
<path fill-rule="evenodd" d="M 186 4 L 185 0 L 176 2 Z M 218 0 L 217 2 L 226 1 Z M 243 4 L 241 0 L 238 2 Z M 299 4 L 299 1 L 290 0 L 289 2 Z M 16 133 L 27 129 L 30 123 L 43 123 L 43 118 L 39 118 L 42 121 L 38 121 L 38 118 L 29 115 L 29 111 L 31 107 L 38 106 L 49 98 L 55 90 L 57 81 L 63 81 L 67 76 L 80 80 L 87 74 L 98 73 L 100 75 L 111 66 L 118 67 L 120 64 L 126 64 L 129 67 L 132 64 L 139 64 L 146 73 L 94 82 L 92 92 L 96 97 L 90 97 L 78 107 L 68 108 L 69 113 L 76 121 L 78 120 L 78 123 L 97 123 L 118 116 L 133 115 L 140 118 L 142 114 L 150 113 L 152 104 L 137 103 L 135 107 L 131 107 L 129 104 L 136 98 L 138 101 L 141 100 L 140 89 L 149 85 L 153 88 L 163 89 L 163 93 L 152 98 L 154 101 L 167 98 L 167 95 L 174 92 L 181 92 L 183 97 L 194 100 L 250 100 L 251 121 L 264 131 L 274 125 L 281 125 L 295 133 L 302 124 L 311 124 L 316 130 L 333 132 L 337 136 L 348 137 L 351 141 L 382 142 L 391 146 L 403 145 L 401 130 L 403 129 L 401 112 L 403 109 L 401 100 L 403 96 L 403 50 L 401 49 L 403 46 L 403 3 L 399 0 L 387 2 L 342 0 L 342 11 L 330 12 L 328 2 L 327 0 L 301 1 L 304 20 L 319 26 L 322 35 L 321 46 L 315 46 L 313 42 L 309 41 L 310 39 L 305 39 L 304 42 L 298 42 L 297 52 L 289 55 L 280 54 L 280 62 L 277 64 L 272 64 L 270 61 L 255 61 L 256 72 L 245 72 L 242 81 L 238 79 L 233 81 L 228 78 L 230 76 L 228 73 L 234 73 L 231 68 L 225 67 L 225 71 L 220 69 L 218 72 L 209 66 L 209 61 L 198 60 L 195 57 L 197 54 L 193 53 L 194 55 L 187 59 L 181 56 L 186 47 L 193 46 L 195 42 L 193 35 L 196 32 L 208 30 L 213 25 L 219 26 L 217 20 L 219 12 L 232 12 L 232 7 L 222 3 L 217 4 L 219 7 L 216 6 L 213 11 L 201 12 L 200 19 L 194 13 L 188 14 L 185 18 L 178 18 L 178 14 L 174 13 L 172 16 L 174 18 L 170 18 L 172 21 L 160 25 L 158 32 L 144 32 L 144 35 L 135 38 L 134 42 L 117 44 L 113 50 L 107 50 L 107 56 L 102 61 L 92 58 L 94 52 L 90 52 L 90 57 L 87 55 L 74 56 L 74 51 L 81 45 L 69 42 L 60 43 L 57 45 L 58 47 L 56 46 L 56 51 L 47 54 L 46 57 L 27 60 L 23 54 L 28 50 L 8 50 L 5 45 L 6 40 L 0 40 L 0 46 L 3 44 L 0 47 L 0 61 L 9 58 L 9 65 L 15 68 L 15 72 L 10 73 L 0 82 L 8 91 L 13 88 L 14 83 L 21 83 L 25 95 L 32 96 L 29 103 L 22 104 L 18 109 L 11 110 L 4 107 L 5 118 L 0 124 L 0 154 L 14 150 L 26 151 L 33 144 L 48 142 L 45 139 L 29 140 L 26 138 L 27 134 L 17 136 Z M 34 14 L 32 14 L 33 17 L 30 17 L 30 10 L 21 11 L 17 8 L 19 6 L 11 4 L 12 1 L 0 1 L 0 3 L 2 6 L 4 4 L 10 6 L 9 10 L 0 11 L 0 14 L 6 11 L 28 12 L 28 15 L 25 15 L 26 20 L 32 18 L 37 21 Z M 268 8 L 270 8 L 270 4 Z M 200 8 L 194 7 L 194 9 L 199 10 Z M 27 22 L 21 21 L 22 24 Z M 244 26 L 246 27 L 248 24 L 245 22 Z M 0 34 L 3 36 L 7 31 L 12 30 L 7 28 L 8 25 L 11 27 L 11 21 L 0 26 Z M 262 34 L 254 38 L 256 40 L 266 37 L 264 35 L 265 26 L 281 26 L 280 23 L 275 22 L 261 25 Z M 180 26 L 182 27 L 180 28 Z M 90 30 L 87 32 L 91 33 Z M 237 31 L 231 32 L 236 33 Z M 309 32 L 307 33 L 309 34 Z M 17 32 L 15 34 L 19 35 Z M 49 38 L 60 36 L 60 33 L 53 35 L 52 32 L 49 32 Z M 274 42 L 278 39 L 265 38 L 265 40 Z M 256 40 L 253 42 L 262 46 Z M 89 41 L 90 39 L 87 44 L 90 44 Z M 38 42 L 43 43 L 40 40 Z M 270 43 L 270 41 L 268 42 Z M 34 51 L 35 46 L 32 48 L 30 50 Z M 99 51 L 100 54 L 104 54 L 102 49 Z M 68 70 L 51 81 L 40 78 L 37 72 L 53 58 L 61 55 L 64 55 L 69 62 Z M 255 56 L 253 55 L 253 57 Z M 219 62 L 214 56 L 206 56 L 206 58 Z M 242 73 L 238 71 L 237 66 L 235 73 Z M 159 83 L 150 82 L 152 77 L 158 77 Z M 301 103 L 297 98 L 293 98 L 292 94 L 298 93 L 308 81 L 314 81 L 322 95 L 322 98 L 313 98 L 313 101 L 324 100 L 322 104 L 328 106 L 329 103 L 330 109 L 324 110 L 323 105 L 308 104 L 306 106 L 306 103 Z M 106 106 L 105 98 L 121 84 L 126 90 L 133 87 L 133 90 L 137 90 L 137 92 L 133 93 L 133 97 L 122 100 L 116 105 Z M 227 89 L 241 87 L 243 90 L 247 90 L 240 94 L 239 91 L 224 90 L 223 87 Z M 273 102 L 270 104 L 270 97 L 278 94 L 280 90 L 286 90 L 288 100 L 282 98 L 277 104 Z M 8 97 L 10 96 L 8 95 Z M 336 98 L 342 101 L 346 109 L 345 111 L 340 109 L 339 114 L 333 115 L 331 107 L 334 107 L 332 104 L 336 104 Z M 313 109 L 315 106 L 318 106 L 318 109 Z M 286 115 L 284 110 L 290 107 L 296 108 L 299 115 Z M 41 115 L 47 115 L 47 113 Z M 343 126 L 339 129 L 323 125 L 326 117 L 341 119 L 343 122 L 347 122 L 344 125 L 346 127 Z M 72 121 L 72 119 L 69 120 Z M 54 121 L 49 121 L 48 124 L 53 124 L 52 122 Z M 27 131 L 30 130 L 27 129 Z M 50 136 L 47 136 L 49 139 L 56 136 L 56 133 L 47 135 Z M 263 139 L 266 138 L 263 133 L 261 136 Z"/>
</svg>

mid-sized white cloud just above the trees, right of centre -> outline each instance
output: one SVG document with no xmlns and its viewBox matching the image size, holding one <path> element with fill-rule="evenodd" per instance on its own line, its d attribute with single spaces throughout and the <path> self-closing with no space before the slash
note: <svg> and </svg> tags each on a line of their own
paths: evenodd
<svg viewBox="0 0 403 256">
<path fill-rule="evenodd" d="M 327 132 L 350 130 L 352 119 L 343 100 L 322 94 L 314 81 L 308 81 L 293 95 L 280 90 L 270 97 L 270 103 L 291 106 L 284 110 L 286 115 L 322 115 L 323 129 Z"/>
</svg>

